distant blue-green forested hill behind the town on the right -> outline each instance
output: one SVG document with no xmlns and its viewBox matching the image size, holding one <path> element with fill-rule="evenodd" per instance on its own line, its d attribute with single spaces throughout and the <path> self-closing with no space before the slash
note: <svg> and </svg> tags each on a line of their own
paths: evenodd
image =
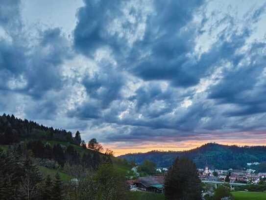
<svg viewBox="0 0 266 200">
<path fill-rule="evenodd" d="M 242 169 L 246 163 L 265 162 L 266 146 L 236 146 L 207 143 L 188 151 L 150 151 L 147 153 L 133 153 L 121 155 L 128 161 L 135 160 L 141 164 L 150 160 L 158 167 L 169 167 L 176 157 L 192 159 L 197 168 L 204 168 L 206 163 L 211 169 Z"/>
</svg>

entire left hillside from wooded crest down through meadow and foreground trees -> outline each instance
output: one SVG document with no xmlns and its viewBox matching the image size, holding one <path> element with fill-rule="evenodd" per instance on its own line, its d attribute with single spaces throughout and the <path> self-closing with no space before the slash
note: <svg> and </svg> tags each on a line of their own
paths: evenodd
<svg viewBox="0 0 266 200">
<path fill-rule="evenodd" d="M 78 131 L 0 116 L 0 200 L 121 200 L 132 167 Z"/>
</svg>

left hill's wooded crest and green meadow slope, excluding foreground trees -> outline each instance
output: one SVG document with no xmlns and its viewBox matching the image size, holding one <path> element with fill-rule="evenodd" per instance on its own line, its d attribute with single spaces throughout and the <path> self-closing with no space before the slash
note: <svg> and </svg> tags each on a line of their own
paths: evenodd
<svg viewBox="0 0 266 200">
<path fill-rule="evenodd" d="M 103 148 L 96 139 L 86 144 L 78 131 L 73 137 L 70 131 L 19 119 L 13 114 L 0 116 L 0 149 L 30 156 L 44 170 L 71 166 L 85 171 L 97 169 L 102 163 L 111 163 L 113 159 L 110 150 L 102 153 Z M 69 174 L 73 175 L 73 171 Z"/>
</svg>

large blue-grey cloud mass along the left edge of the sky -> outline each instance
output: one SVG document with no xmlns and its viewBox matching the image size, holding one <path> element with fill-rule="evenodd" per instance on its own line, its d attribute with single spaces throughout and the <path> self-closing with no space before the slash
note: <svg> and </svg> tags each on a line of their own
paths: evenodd
<svg viewBox="0 0 266 200">
<path fill-rule="evenodd" d="M 6 98 L 14 99 L 14 105 L 1 101 L 1 108 L 13 114 L 16 110 L 6 109 L 10 105 L 26 107 L 27 117 L 49 118 L 57 112 L 58 97 L 47 92 L 59 92 L 64 85 L 60 64 L 71 57 L 69 42 L 59 28 L 29 34 L 22 23 L 20 3 L 3 0 L 0 4 L 0 28 L 5 34 L 0 37 L 0 89 L 6 91 Z"/>
</svg>

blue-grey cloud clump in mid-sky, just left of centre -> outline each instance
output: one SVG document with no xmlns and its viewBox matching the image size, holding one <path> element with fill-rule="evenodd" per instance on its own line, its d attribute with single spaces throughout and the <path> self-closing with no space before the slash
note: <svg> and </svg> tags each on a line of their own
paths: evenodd
<svg viewBox="0 0 266 200">
<path fill-rule="evenodd" d="M 108 109 L 113 101 L 122 99 L 121 88 L 125 80 L 112 66 L 105 66 L 92 75 L 84 76 L 81 83 L 90 98 L 68 114 L 81 119 L 98 119 L 103 117 L 102 112 Z M 110 117 L 109 122 L 115 117 L 114 113 Z"/>
</svg>

